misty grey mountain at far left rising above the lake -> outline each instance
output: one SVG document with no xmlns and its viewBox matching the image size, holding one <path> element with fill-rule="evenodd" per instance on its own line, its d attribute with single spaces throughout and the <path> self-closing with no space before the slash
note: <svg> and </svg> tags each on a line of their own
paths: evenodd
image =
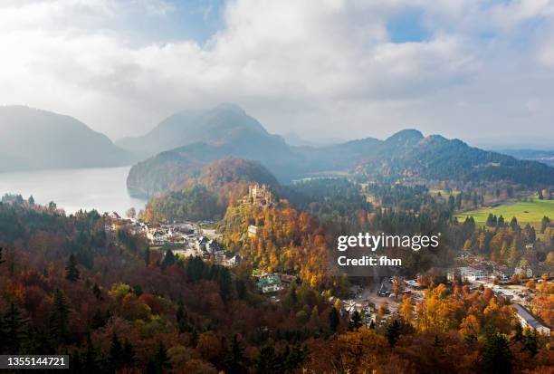
<svg viewBox="0 0 554 374">
<path fill-rule="evenodd" d="M 0 171 L 129 165 L 133 158 L 72 117 L 24 106 L 0 107 Z"/>
</svg>

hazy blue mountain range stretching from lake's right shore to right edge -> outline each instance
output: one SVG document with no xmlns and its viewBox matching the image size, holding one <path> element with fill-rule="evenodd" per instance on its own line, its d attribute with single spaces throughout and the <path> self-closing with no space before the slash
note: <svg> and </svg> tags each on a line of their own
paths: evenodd
<svg viewBox="0 0 554 374">
<path fill-rule="evenodd" d="M 314 173 L 349 171 L 375 177 L 554 184 L 554 168 L 539 162 L 473 148 L 459 139 L 424 137 L 416 129 L 401 130 L 385 140 L 367 138 L 314 148 L 287 144 L 244 110 L 228 104 L 196 113 L 196 120 L 182 117 L 184 129 L 178 118 L 172 116 L 153 130 L 152 134 L 158 134 L 153 142 L 158 147 L 170 144 L 169 139 L 197 142 L 161 152 L 131 168 L 128 187 L 134 193 L 151 196 L 164 192 L 196 175 L 205 164 L 228 157 L 260 161 L 283 183 Z M 137 147 L 147 144 L 148 136 L 135 141 Z"/>
</svg>

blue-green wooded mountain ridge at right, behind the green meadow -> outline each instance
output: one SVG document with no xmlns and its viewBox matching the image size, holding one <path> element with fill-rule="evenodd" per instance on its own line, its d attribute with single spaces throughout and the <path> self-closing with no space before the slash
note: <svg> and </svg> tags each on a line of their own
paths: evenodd
<svg viewBox="0 0 554 374">
<path fill-rule="evenodd" d="M 406 130 L 405 130 L 406 131 Z M 358 169 L 369 176 L 435 180 L 506 180 L 525 186 L 554 185 L 554 168 L 468 146 L 460 139 L 401 131 L 375 149 Z"/>
</svg>

